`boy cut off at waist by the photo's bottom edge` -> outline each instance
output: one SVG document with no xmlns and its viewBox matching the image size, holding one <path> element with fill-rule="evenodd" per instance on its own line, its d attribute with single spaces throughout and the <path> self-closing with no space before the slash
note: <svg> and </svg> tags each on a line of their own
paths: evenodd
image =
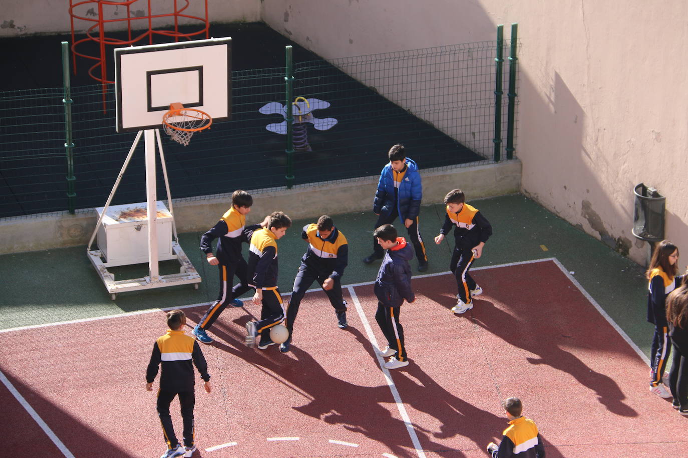
<svg viewBox="0 0 688 458">
<path fill-rule="evenodd" d="M 502 407 L 509 419 L 509 427 L 504 430 L 499 446 L 494 442 L 488 444 L 487 453 L 492 458 L 544 458 L 545 446 L 535 422 L 521 415 L 521 400 L 508 398 L 502 402 Z"/>
</svg>

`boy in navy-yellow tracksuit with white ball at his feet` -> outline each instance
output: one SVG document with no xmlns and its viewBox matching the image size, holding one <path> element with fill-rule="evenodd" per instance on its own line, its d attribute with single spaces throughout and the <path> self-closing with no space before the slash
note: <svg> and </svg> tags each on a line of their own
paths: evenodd
<svg viewBox="0 0 688 458">
<path fill-rule="evenodd" d="M 261 317 L 246 323 L 246 345 L 265 350 L 275 342 L 270 340 L 270 328 L 284 319 L 284 304 L 277 288 L 277 240 L 291 227 L 292 220 L 281 211 L 274 211 L 267 226 L 252 233 L 248 253 L 248 284 L 256 289 L 255 304 L 262 304 Z"/>
</svg>

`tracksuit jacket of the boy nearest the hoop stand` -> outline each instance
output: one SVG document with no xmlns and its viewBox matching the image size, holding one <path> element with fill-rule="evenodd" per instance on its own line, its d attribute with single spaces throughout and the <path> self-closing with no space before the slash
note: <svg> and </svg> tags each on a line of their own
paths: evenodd
<svg viewBox="0 0 688 458">
<path fill-rule="evenodd" d="M 246 237 L 245 225 L 246 216 L 232 206 L 215 226 L 201 236 L 201 251 L 206 254 L 213 253 L 212 243 L 217 238 L 217 260 L 224 265 L 235 264 L 241 257 L 241 242 L 248 243 L 249 240 Z"/>
</svg>

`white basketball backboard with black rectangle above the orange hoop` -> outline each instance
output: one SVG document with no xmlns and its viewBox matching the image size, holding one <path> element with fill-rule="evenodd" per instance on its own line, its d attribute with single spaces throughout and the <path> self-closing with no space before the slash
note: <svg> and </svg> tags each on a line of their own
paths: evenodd
<svg viewBox="0 0 688 458">
<path fill-rule="evenodd" d="M 170 104 L 231 117 L 232 38 L 115 49 L 117 131 L 160 128 Z"/>
</svg>

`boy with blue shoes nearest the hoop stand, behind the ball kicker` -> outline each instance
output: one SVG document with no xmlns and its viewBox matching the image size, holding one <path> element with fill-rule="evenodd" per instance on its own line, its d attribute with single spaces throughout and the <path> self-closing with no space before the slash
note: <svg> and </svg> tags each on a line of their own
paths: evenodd
<svg viewBox="0 0 688 458">
<path fill-rule="evenodd" d="M 219 295 L 217 301 L 208 308 L 192 334 L 202 343 L 213 343 L 213 339 L 206 333 L 228 304 L 241 307 L 244 304 L 237 299 L 248 290 L 248 264 L 241 255 L 241 242 L 248 243 L 247 233 L 250 234 L 261 227 L 252 225 L 246 227 L 246 215 L 251 211 L 253 198 L 246 191 L 237 190 L 232 194 L 232 207 L 210 230 L 201 236 L 201 251 L 206 253 L 208 264 L 219 268 Z M 263 223 L 264 224 L 264 223 Z M 217 238 L 217 249 L 213 255 L 213 240 Z M 234 276 L 239 283 L 232 288 Z"/>
</svg>

